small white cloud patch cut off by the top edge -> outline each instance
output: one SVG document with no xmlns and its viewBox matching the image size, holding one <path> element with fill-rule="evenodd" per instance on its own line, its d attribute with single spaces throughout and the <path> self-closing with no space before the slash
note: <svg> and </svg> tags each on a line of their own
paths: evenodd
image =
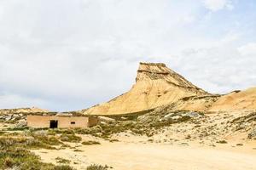
<svg viewBox="0 0 256 170">
<path fill-rule="evenodd" d="M 233 9 L 234 6 L 230 0 L 203 0 L 205 7 L 213 12 L 223 8 Z"/>
</svg>

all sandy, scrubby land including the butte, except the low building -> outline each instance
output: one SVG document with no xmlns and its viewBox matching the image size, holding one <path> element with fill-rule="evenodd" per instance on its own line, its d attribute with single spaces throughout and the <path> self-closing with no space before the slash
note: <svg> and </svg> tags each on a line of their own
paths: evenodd
<svg viewBox="0 0 256 170">
<path fill-rule="evenodd" d="M 256 88 L 209 94 L 164 64 L 140 63 L 127 93 L 73 112 L 105 115 L 96 127 L 28 128 L 30 113 L 51 114 L 0 110 L 0 168 L 256 169 Z"/>
</svg>

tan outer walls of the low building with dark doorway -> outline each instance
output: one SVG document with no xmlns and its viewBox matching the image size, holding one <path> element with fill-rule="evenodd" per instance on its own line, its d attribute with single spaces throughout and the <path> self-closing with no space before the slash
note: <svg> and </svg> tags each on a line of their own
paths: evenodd
<svg viewBox="0 0 256 170">
<path fill-rule="evenodd" d="M 69 127 L 91 127 L 97 124 L 96 117 L 87 116 L 27 116 L 27 126 L 44 128 L 49 127 L 50 121 L 58 121 L 58 128 L 69 128 Z M 75 124 L 71 124 L 75 122 Z"/>
</svg>

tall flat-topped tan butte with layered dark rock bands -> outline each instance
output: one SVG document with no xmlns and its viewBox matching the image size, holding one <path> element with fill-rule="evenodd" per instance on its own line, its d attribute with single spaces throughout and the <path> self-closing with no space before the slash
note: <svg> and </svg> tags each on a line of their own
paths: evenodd
<svg viewBox="0 0 256 170">
<path fill-rule="evenodd" d="M 81 111 L 84 114 L 113 115 L 153 109 L 191 96 L 208 95 L 162 63 L 140 63 L 131 90 L 102 105 Z"/>
</svg>

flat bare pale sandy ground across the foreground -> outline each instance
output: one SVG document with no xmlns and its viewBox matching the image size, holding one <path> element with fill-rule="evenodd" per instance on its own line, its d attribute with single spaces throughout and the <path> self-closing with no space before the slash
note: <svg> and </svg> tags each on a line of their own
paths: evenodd
<svg viewBox="0 0 256 170">
<path fill-rule="evenodd" d="M 256 147 L 255 143 L 253 145 Z M 71 166 L 85 169 L 92 163 L 118 170 L 247 170 L 256 169 L 253 145 L 217 147 L 103 142 L 99 145 L 74 144 L 74 149 L 33 150 L 43 161 L 55 163 L 56 157 L 68 159 Z M 75 162 L 75 163 L 74 163 Z"/>
</svg>

